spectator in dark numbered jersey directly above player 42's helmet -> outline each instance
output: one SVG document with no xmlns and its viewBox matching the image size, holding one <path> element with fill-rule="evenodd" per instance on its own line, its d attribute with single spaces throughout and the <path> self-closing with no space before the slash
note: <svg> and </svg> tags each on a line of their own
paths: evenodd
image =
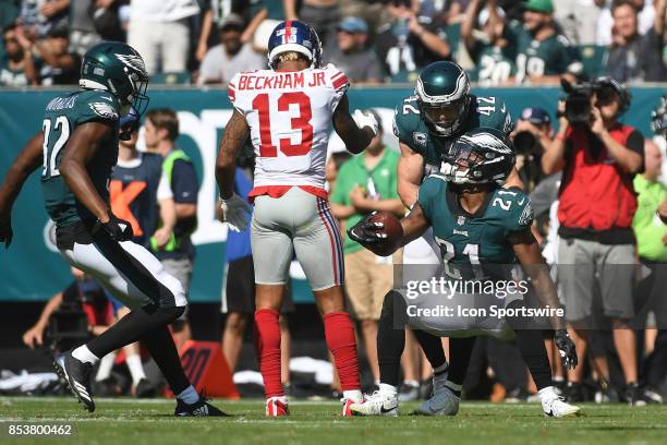
<svg viewBox="0 0 667 445">
<path fill-rule="evenodd" d="M 412 81 L 416 71 L 451 56 L 445 23 L 439 15 L 415 13 L 410 0 L 388 5 L 391 22 L 378 29 L 375 47 L 385 74 Z M 403 79 L 407 77 L 407 79 Z"/>
</svg>

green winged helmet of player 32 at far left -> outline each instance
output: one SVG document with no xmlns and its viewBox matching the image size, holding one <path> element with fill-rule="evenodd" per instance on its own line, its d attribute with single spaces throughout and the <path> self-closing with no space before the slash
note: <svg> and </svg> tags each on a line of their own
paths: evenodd
<svg viewBox="0 0 667 445">
<path fill-rule="evenodd" d="M 88 49 L 81 65 L 78 85 L 87 89 L 108 91 L 118 97 L 121 112 L 130 108 L 141 116 L 148 106 L 148 73 L 144 59 L 130 45 L 102 41 Z"/>
</svg>

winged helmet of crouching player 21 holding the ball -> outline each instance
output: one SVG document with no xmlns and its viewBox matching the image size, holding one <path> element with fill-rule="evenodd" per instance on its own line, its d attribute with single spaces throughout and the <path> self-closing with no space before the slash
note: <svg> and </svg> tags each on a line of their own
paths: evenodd
<svg viewBox="0 0 667 445">
<path fill-rule="evenodd" d="M 454 184 L 502 185 L 517 157 L 505 133 L 480 127 L 458 137 L 442 159 L 440 175 Z"/>
</svg>

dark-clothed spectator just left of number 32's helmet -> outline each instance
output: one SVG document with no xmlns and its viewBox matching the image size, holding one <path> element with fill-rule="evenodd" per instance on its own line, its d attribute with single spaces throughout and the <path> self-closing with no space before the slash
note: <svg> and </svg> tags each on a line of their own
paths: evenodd
<svg viewBox="0 0 667 445">
<path fill-rule="evenodd" d="M 69 32 L 53 27 L 47 38 L 37 41 L 36 49 L 44 60 L 40 70 L 41 85 L 76 85 L 81 71 L 81 58 L 68 52 Z"/>
</svg>

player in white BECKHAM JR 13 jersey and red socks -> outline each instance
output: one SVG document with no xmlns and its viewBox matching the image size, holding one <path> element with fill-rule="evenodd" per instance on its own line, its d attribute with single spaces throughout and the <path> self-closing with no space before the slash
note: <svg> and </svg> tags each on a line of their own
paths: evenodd
<svg viewBox="0 0 667 445">
<path fill-rule="evenodd" d="M 233 194 L 235 156 L 250 137 L 255 149 L 255 211 L 251 240 L 256 284 L 256 347 L 267 416 L 286 416 L 280 383 L 278 312 L 292 252 L 303 267 L 324 318 L 327 346 L 343 389 L 342 414 L 362 400 L 356 341 L 345 312 L 342 240 L 325 191 L 325 160 L 331 124 L 352 153 L 366 148 L 377 122 L 350 116 L 343 73 L 320 67 L 315 31 L 301 22 L 279 24 L 269 38 L 270 70 L 239 73 L 230 82 L 234 112 L 225 129 L 216 165 L 225 220 L 244 230 L 247 204 Z"/>
</svg>

